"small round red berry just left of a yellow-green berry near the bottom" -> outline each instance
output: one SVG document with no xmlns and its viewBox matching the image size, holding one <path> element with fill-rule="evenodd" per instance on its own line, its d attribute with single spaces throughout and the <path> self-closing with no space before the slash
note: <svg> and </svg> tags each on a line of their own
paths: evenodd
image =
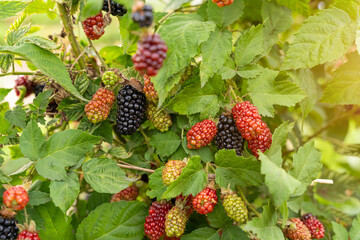
<svg viewBox="0 0 360 240">
<path fill-rule="evenodd" d="M 216 190 L 214 188 L 205 188 L 193 200 L 194 209 L 200 214 L 208 214 L 214 210 L 217 203 Z"/>
</svg>

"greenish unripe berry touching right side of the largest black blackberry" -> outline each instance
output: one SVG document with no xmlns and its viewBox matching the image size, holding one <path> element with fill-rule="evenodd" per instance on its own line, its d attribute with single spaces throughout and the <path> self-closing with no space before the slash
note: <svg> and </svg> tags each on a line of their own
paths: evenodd
<svg viewBox="0 0 360 240">
<path fill-rule="evenodd" d="M 146 116 L 154 127 L 161 132 L 168 131 L 172 125 L 171 116 L 165 110 L 158 110 L 153 102 L 149 102 Z"/>
</svg>

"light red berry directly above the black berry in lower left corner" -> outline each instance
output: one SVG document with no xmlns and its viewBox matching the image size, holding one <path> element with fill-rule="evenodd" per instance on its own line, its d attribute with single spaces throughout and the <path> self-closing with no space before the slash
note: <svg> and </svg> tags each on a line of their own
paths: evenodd
<svg viewBox="0 0 360 240">
<path fill-rule="evenodd" d="M 29 195 L 22 186 L 14 186 L 4 192 L 3 202 L 6 207 L 19 211 L 29 202 Z"/>
</svg>

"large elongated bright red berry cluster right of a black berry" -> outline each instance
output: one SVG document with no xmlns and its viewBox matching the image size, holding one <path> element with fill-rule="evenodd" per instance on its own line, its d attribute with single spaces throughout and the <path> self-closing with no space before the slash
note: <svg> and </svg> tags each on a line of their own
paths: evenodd
<svg viewBox="0 0 360 240">
<path fill-rule="evenodd" d="M 270 129 L 261 120 L 261 116 L 254 105 L 248 101 L 238 103 L 233 107 L 232 114 L 238 130 L 256 157 L 259 157 L 258 150 L 265 152 L 271 147 L 272 134 Z"/>
</svg>

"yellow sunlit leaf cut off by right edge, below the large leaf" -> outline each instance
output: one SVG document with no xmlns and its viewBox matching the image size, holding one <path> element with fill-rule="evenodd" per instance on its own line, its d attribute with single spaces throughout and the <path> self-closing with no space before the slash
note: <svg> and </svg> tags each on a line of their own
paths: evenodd
<svg viewBox="0 0 360 240">
<path fill-rule="evenodd" d="M 339 67 L 325 88 L 321 102 L 332 104 L 360 104 L 360 57 L 354 56 Z"/>
</svg>

